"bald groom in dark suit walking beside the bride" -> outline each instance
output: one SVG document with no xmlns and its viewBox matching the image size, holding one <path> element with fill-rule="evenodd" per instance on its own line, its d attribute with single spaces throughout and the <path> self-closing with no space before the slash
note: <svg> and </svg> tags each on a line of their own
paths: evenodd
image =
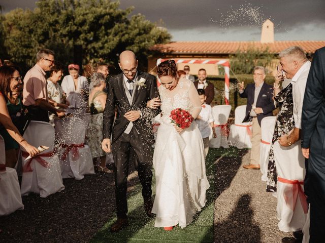
<svg viewBox="0 0 325 243">
<path fill-rule="evenodd" d="M 107 153 L 111 152 L 112 143 L 114 158 L 117 221 L 110 228 L 112 232 L 127 225 L 126 183 L 130 149 L 136 156 L 146 214 L 154 216 L 151 213 L 151 145 L 154 143 L 151 118 L 159 113 L 158 109 L 146 107 L 149 100 L 158 96 L 156 78 L 137 69 L 138 60 L 131 51 L 120 54 L 119 66 L 122 73 L 111 78 L 107 87 L 102 142 L 102 148 Z M 117 116 L 114 123 L 115 107 Z"/>
</svg>

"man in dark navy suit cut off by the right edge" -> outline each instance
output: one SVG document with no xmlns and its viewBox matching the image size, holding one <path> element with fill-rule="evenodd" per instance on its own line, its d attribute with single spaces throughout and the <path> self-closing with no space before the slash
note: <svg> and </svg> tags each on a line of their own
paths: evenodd
<svg viewBox="0 0 325 243">
<path fill-rule="evenodd" d="M 310 204 L 310 240 L 325 241 L 325 47 L 313 57 L 302 109 L 305 194 Z"/>
</svg>

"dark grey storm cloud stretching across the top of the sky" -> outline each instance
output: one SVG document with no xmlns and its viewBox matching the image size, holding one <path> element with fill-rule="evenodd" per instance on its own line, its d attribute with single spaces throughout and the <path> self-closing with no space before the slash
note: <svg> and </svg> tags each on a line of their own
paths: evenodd
<svg viewBox="0 0 325 243">
<path fill-rule="evenodd" d="M 259 7 L 259 13 L 264 15 L 265 19 L 271 18 L 275 26 L 283 30 L 292 29 L 301 24 L 319 24 L 325 21 L 324 0 L 247 2 L 242 0 L 121 0 L 122 8 L 128 6 L 135 6 L 133 13 L 142 13 L 151 21 L 158 22 L 162 19 L 169 29 L 222 27 L 221 23 L 225 15 L 237 11 L 242 6 Z M 243 21 L 239 23 L 240 21 L 240 19 L 234 21 L 233 26 L 243 25 Z"/>
</svg>

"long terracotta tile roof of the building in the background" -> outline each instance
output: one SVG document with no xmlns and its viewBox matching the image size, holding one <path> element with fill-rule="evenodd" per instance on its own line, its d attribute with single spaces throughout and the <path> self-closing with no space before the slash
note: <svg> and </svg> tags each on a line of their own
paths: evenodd
<svg viewBox="0 0 325 243">
<path fill-rule="evenodd" d="M 325 46 L 325 41 L 275 41 L 274 43 L 261 42 L 171 42 L 155 45 L 151 48 L 160 53 L 175 54 L 230 54 L 238 50 L 247 51 L 250 48 L 268 49 L 270 53 L 279 53 L 285 48 L 300 46 L 306 53 L 314 53 Z"/>
</svg>

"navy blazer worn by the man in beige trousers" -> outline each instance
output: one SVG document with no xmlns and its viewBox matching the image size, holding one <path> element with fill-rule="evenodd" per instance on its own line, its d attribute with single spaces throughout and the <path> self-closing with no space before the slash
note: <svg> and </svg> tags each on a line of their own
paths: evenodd
<svg viewBox="0 0 325 243">
<path fill-rule="evenodd" d="M 252 109 L 252 104 L 254 103 L 254 93 L 255 93 L 255 84 L 247 85 L 246 89 L 243 93 L 239 93 L 241 98 L 247 98 L 247 106 L 246 106 L 246 116 L 243 120 L 243 123 L 249 121 L 249 113 Z M 266 83 L 263 84 L 261 91 L 258 94 L 256 107 L 260 107 L 263 109 L 263 113 L 257 114 L 257 120 L 259 126 L 261 126 L 261 120 L 266 116 L 273 115 L 272 111 L 275 109 L 275 105 L 273 102 L 273 87 Z"/>
</svg>

